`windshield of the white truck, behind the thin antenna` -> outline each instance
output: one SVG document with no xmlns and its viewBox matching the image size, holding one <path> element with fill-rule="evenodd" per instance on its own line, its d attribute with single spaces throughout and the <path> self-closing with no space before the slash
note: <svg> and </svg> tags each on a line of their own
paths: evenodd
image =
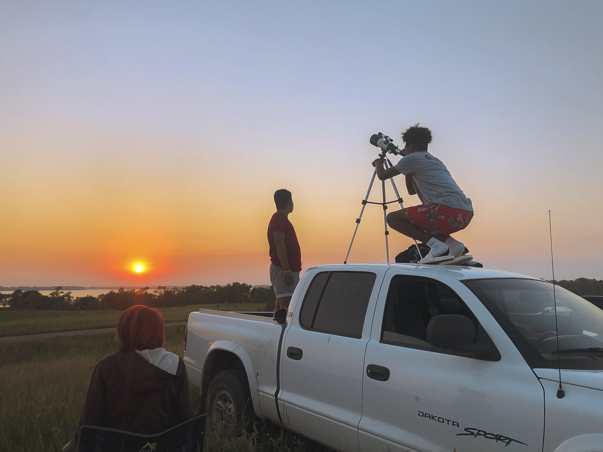
<svg viewBox="0 0 603 452">
<path fill-rule="evenodd" d="M 519 331 L 520 336 L 512 334 L 511 338 L 525 339 L 523 346 L 538 358 L 534 365 L 555 367 L 559 357 L 561 368 L 603 369 L 603 310 L 584 298 L 548 281 L 493 278 L 463 282 L 482 301 L 496 306 L 499 315 L 510 321 L 505 323 Z"/>
</svg>

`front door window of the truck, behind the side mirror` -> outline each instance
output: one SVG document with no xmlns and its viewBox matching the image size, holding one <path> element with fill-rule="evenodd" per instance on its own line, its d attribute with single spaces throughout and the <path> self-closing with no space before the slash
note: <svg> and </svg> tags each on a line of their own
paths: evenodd
<svg viewBox="0 0 603 452">
<path fill-rule="evenodd" d="M 464 330 L 467 344 L 446 343 L 443 321 L 449 319 L 443 316 L 449 314 L 456 316 L 452 320 Z M 467 320 L 463 321 L 458 316 Z M 470 351 L 475 348 L 473 344 L 493 345 L 478 319 L 450 287 L 440 281 L 407 275 L 396 275 L 391 280 L 385 301 L 381 342 L 441 353 Z"/>
</svg>

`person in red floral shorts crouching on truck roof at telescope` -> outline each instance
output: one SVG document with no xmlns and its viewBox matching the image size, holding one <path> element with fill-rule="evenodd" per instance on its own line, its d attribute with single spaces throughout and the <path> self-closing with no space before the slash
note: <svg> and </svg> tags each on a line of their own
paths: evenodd
<svg viewBox="0 0 603 452">
<path fill-rule="evenodd" d="M 408 194 L 418 195 L 422 204 L 390 212 L 387 224 L 431 248 L 421 262 L 434 262 L 446 251 L 460 258 L 465 245 L 450 234 L 469 225 L 473 218 L 471 199 L 465 196 L 444 163 L 427 151 L 432 140 L 431 130 L 417 123 L 402 133 L 402 140 L 405 143 L 403 157 L 396 165 L 385 169 L 384 159 L 376 159 L 373 166 L 379 180 L 405 175 Z"/>
</svg>

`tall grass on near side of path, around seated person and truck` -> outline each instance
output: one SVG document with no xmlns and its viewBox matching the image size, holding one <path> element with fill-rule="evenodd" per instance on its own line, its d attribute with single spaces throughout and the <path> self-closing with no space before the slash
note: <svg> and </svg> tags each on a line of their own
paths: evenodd
<svg viewBox="0 0 603 452">
<path fill-rule="evenodd" d="M 182 356 L 184 325 L 167 327 L 166 350 Z M 117 350 L 113 333 L 0 344 L 0 451 L 60 451 L 80 417 L 92 369 Z M 195 414 L 200 396 L 191 387 Z M 323 450 L 286 431 L 258 423 L 251 430 L 211 426 L 208 452 Z"/>
</svg>

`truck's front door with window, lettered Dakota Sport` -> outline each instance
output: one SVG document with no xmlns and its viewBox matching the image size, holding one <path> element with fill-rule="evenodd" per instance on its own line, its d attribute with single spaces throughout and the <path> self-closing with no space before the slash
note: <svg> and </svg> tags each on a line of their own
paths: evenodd
<svg viewBox="0 0 603 452">
<path fill-rule="evenodd" d="M 541 451 L 534 372 L 475 295 L 441 278 L 385 278 L 365 354 L 361 452 Z"/>
</svg>

